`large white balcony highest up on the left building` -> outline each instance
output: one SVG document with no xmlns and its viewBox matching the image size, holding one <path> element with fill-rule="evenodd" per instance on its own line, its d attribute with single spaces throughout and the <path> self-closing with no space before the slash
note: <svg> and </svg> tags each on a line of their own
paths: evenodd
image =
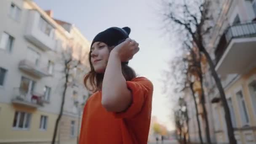
<svg viewBox="0 0 256 144">
<path fill-rule="evenodd" d="M 40 13 L 35 10 L 29 10 L 27 18 L 25 31 L 27 40 L 43 51 L 53 50 L 55 47 L 55 40 L 53 39 L 54 27 L 46 22 Z"/>
</svg>

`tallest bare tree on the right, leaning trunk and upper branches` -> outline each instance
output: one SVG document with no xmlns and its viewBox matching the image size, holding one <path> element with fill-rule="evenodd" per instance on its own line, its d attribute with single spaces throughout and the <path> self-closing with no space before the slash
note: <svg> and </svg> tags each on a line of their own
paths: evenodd
<svg viewBox="0 0 256 144">
<path fill-rule="evenodd" d="M 212 20 L 211 13 L 209 12 L 211 3 L 213 3 L 211 0 L 168 0 L 164 2 L 165 12 L 163 16 L 165 17 L 165 22 L 168 24 L 167 27 L 171 25 L 172 29 L 178 30 L 182 37 L 184 35 L 188 36 L 189 39 L 187 42 L 195 43 L 199 51 L 204 53 L 224 107 L 229 143 L 236 144 L 224 89 L 215 70 L 213 60 L 205 48 L 206 34 L 211 29 L 211 26 L 208 24 Z M 209 139 L 207 140 L 209 141 Z"/>
</svg>

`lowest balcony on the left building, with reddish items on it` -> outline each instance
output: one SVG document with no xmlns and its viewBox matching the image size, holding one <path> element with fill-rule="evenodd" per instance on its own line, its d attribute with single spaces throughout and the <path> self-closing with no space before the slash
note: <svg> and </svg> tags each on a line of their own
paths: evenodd
<svg viewBox="0 0 256 144">
<path fill-rule="evenodd" d="M 13 104 L 25 107 L 38 108 L 43 106 L 43 94 L 36 92 L 27 93 L 21 88 L 13 88 Z"/>
</svg>

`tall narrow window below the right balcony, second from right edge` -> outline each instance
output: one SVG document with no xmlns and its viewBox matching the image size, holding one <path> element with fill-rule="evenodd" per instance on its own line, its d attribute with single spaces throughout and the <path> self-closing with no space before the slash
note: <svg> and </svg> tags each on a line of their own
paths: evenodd
<svg viewBox="0 0 256 144">
<path fill-rule="evenodd" d="M 242 119 L 243 126 L 244 126 L 249 123 L 249 117 L 248 117 L 248 113 L 246 110 L 246 106 L 245 106 L 246 104 L 245 104 L 245 100 L 244 100 L 242 91 L 238 91 L 236 93 L 236 96 L 237 96 L 238 105 L 239 105 L 239 109 L 240 109 L 241 119 Z"/>
</svg>

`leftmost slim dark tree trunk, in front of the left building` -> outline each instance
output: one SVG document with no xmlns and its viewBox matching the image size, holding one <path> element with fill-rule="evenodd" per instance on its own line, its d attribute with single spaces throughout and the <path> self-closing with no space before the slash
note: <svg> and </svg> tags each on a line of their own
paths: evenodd
<svg viewBox="0 0 256 144">
<path fill-rule="evenodd" d="M 56 139 L 56 136 L 57 136 L 57 130 L 58 130 L 58 126 L 59 126 L 59 121 L 61 119 L 61 116 L 63 114 L 63 107 L 64 107 L 64 102 L 65 102 L 65 97 L 66 97 L 66 91 L 67 91 L 67 83 L 68 83 L 68 73 L 66 73 L 66 81 L 65 81 L 65 84 L 64 84 L 64 91 L 62 93 L 62 100 L 61 100 L 61 110 L 59 112 L 59 116 L 56 120 L 56 123 L 55 123 L 55 127 L 54 127 L 54 132 L 53 132 L 53 139 L 51 141 L 51 144 L 55 144 L 55 139 Z M 60 140 L 59 140 L 60 141 Z"/>
</svg>

